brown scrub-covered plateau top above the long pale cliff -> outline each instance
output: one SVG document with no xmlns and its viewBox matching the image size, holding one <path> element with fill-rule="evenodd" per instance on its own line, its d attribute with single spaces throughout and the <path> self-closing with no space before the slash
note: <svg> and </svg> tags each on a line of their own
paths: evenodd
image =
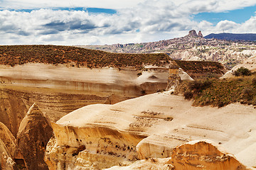
<svg viewBox="0 0 256 170">
<path fill-rule="evenodd" d="M 46 63 L 67 64 L 74 62 L 77 67 L 137 67 L 143 64 L 159 66 L 169 62 L 165 54 L 116 54 L 100 50 L 88 50 L 80 47 L 56 45 L 2 45 L 0 46 L 0 64 Z M 75 66 L 73 65 L 73 66 Z"/>
</svg>

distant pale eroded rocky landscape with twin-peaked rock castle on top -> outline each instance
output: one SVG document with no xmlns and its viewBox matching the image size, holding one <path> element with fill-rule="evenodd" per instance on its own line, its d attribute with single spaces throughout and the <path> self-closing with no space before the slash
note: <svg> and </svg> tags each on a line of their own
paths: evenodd
<svg viewBox="0 0 256 170">
<path fill-rule="evenodd" d="M 108 52 L 158 53 L 164 52 L 174 60 L 221 62 L 228 69 L 256 54 L 255 42 L 205 39 L 201 31 L 191 30 L 181 38 L 116 45 L 80 46 Z"/>
</svg>

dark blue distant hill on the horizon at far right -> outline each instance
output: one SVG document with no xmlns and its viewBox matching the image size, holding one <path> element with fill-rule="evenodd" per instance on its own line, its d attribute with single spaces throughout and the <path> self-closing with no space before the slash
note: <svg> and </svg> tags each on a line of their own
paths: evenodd
<svg viewBox="0 0 256 170">
<path fill-rule="evenodd" d="M 256 34 L 254 34 L 254 33 L 245 33 L 245 34 L 233 34 L 233 33 L 214 34 L 214 33 L 211 33 L 209 35 L 206 35 L 204 38 L 206 38 L 206 39 L 216 38 L 216 39 L 219 39 L 219 40 L 250 40 L 250 41 L 256 41 Z"/>
</svg>

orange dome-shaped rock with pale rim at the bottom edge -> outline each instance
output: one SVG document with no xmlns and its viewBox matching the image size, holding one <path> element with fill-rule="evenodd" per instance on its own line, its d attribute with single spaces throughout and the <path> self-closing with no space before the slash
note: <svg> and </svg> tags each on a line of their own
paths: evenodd
<svg viewBox="0 0 256 170">
<path fill-rule="evenodd" d="M 170 163 L 178 170 L 246 169 L 233 155 L 221 152 L 210 141 L 191 141 L 176 147 Z"/>
</svg>

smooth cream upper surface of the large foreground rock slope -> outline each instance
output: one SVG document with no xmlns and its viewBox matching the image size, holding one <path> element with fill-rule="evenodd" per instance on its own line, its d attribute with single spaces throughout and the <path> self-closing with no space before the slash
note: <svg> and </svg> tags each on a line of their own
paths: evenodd
<svg viewBox="0 0 256 170">
<path fill-rule="evenodd" d="M 182 96 L 150 94 L 112 106 L 85 106 L 65 115 L 57 124 L 79 128 L 99 126 L 145 135 L 150 139 L 144 140 L 151 149 L 144 154 L 149 156 L 164 145 L 174 148 L 191 140 L 208 139 L 237 156 L 246 166 L 256 166 L 256 152 L 252 152 L 256 149 L 253 106 L 233 103 L 223 108 L 201 108 L 191 103 Z"/>
</svg>

